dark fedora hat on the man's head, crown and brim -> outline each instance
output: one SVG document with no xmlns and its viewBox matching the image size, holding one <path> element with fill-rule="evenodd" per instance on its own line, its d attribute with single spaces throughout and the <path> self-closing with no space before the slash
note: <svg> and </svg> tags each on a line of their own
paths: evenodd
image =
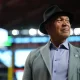
<svg viewBox="0 0 80 80">
<path fill-rule="evenodd" d="M 53 5 L 53 6 L 49 7 L 49 8 L 44 12 L 44 14 L 43 14 L 43 19 L 44 19 L 44 21 L 40 24 L 39 30 L 40 30 L 42 33 L 44 33 L 44 34 L 48 34 L 47 31 L 45 30 L 45 24 L 46 24 L 51 18 L 54 18 L 55 16 L 59 16 L 59 15 L 68 16 L 69 19 L 70 19 L 70 23 L 72 23 L 72 21 L 73 21 L 73 14 L 61 10 L 57 5 Z"/>
</svg>

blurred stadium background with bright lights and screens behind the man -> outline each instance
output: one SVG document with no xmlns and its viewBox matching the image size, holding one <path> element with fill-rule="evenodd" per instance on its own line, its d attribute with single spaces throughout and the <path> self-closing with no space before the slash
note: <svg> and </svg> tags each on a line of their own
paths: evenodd
<svg viewBox="0 0 80 80">
<path fill-rule="evenodd" d="M 68 40 L 80 47 L 78 0 L 0 0 L 0 80 L 22 80 L 29 53 L 49 41 L 38 28 L 45 9 L 55 4 L 74 14 Z"/>
</svg>

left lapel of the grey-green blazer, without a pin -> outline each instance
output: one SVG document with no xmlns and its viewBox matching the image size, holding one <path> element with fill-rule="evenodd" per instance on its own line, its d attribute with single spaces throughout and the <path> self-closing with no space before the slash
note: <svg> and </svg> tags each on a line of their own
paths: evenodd
<svg viewBox="0 0 80 80">
<path fill-rule="evenodd" d="M 44 63 L 51 75 L 51 64 L 50 64 L 50 50 L 49 50 L 49 45 L 50 45 L 50 42 L 48 42 L 45 46 L 43 46 L 41 49 L 40 49 L 40 52 L 41 52 L 41 55 L 42 55 L 42 58 L 44 60 Z"/>
</svg>

